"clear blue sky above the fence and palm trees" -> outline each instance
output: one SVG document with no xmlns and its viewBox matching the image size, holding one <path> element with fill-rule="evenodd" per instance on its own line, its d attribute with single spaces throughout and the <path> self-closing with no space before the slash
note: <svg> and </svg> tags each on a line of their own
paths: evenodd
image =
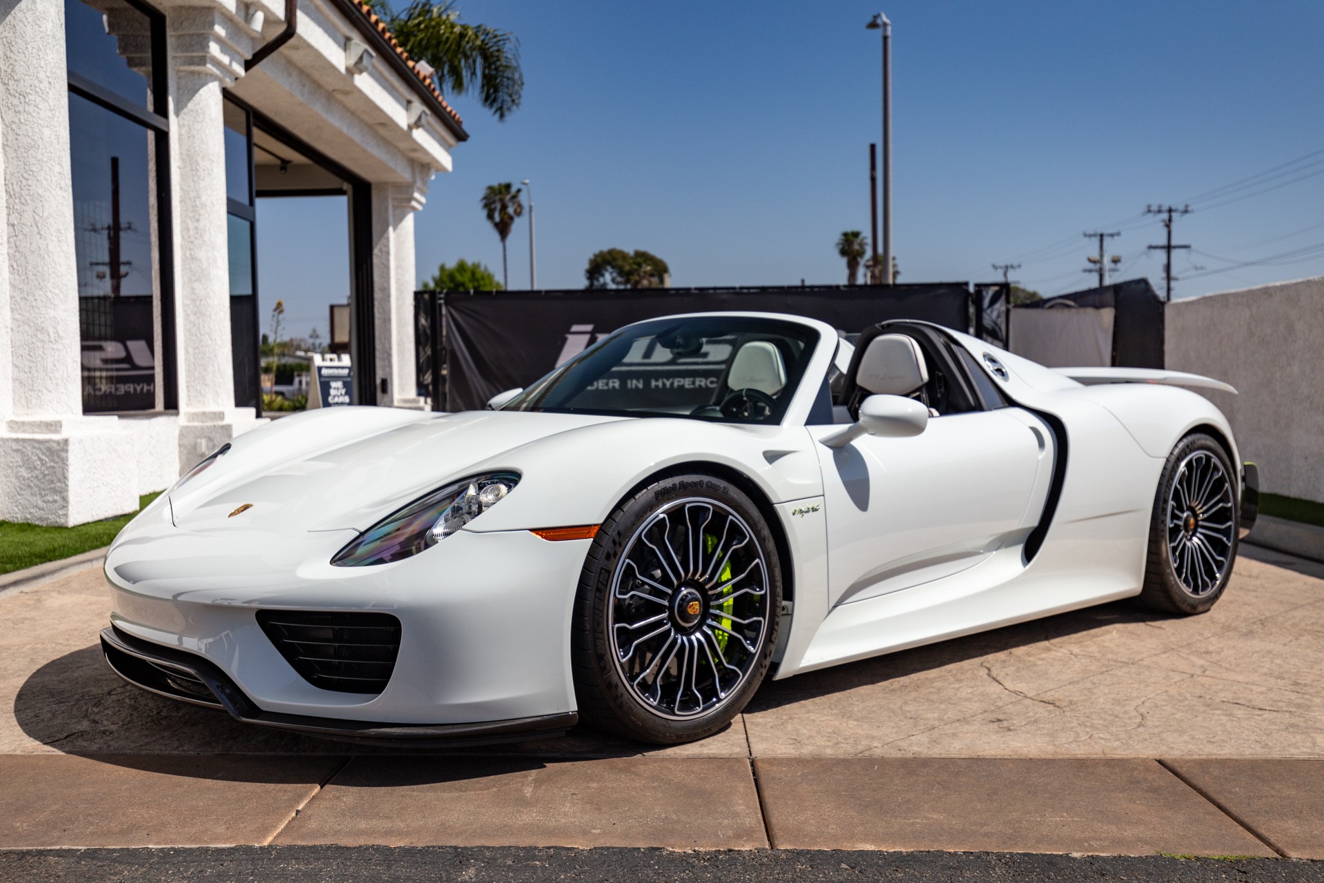
<svg viewBox="0 0 1324 883">
<path fill-rule="evenodd" d="M 487 184 L 524 177 L 539 287 L 581 287 L 588 257 L 612 246 L 654 252 L 682 286 L 845 281 L 833 245 L 869 230 L 880 53 L 865 24 L 876 5 L 461 9 L 518 34 L 527 87 L 503 123 L 453 99 L 471 138 L 418 216 L 420 281 L 455 258 L 499 275 L 478 201 Z M 1127 258 L 1121 277 L 1158 287 L 1162 259 L 1144 246 L 1162 229 L 1119 221 L 1324 150 L 1320 3 L 902 0 L 884 12 L 903 282 L 986 279 L 1019 259 L 1014 278 L 1045 294 L 1088 287 L 1080 233 L 1108 225 L 1125 230 L 1110 242 Z M 1301 168 L 1324 171 L 1324 154 Z M 1221 208 L 1192 201 L 1201 210 L 1178 220 L 1177 241 L 1198 252 L 1176 259 L 1180 274 L 1324 244 L 1324 175 Z M 528 285 L 527 237 L 526 218 L 508 241 L 512 287 Z M 285 258 L 267 252 L 265 274 L 283 278 Z M 1324 248 L 1304 254 L 1177 294 L 1324 273 Z"/>
</svg>

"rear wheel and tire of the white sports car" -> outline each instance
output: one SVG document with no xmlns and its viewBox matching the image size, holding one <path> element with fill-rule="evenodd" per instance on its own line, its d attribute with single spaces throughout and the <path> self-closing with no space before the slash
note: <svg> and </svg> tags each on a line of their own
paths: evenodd
<svg viewBox="0 0 1324 883">
<path fill-rule="evenodd" d="M 1213 437 L 1192 433 L 1168 454 L 1149 522 L 1144 606 L 1181 616 L 1214 606 L 1237 560 L 1237 488 L 1227 451 Z"/>
</svg>

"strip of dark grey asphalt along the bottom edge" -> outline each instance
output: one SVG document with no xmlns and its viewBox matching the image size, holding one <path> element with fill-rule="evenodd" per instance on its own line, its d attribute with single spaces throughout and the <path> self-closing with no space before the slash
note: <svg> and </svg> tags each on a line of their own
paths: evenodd
<svg viewBox="0 0 1324 883">
<path fill-rule="evenodd" d="M 207 880 L 208 883 L 552 883 L 686 880 L 817 883 L 1316 883 L 1324 862 L 1180 857 L 1035 855 L 1025 853 L 865 853 L 755 850 L 673 853 L 659 849 L 482 849 L 269 846 L 0 851 L 0 879 L 30 883 Z"/>
</svg>

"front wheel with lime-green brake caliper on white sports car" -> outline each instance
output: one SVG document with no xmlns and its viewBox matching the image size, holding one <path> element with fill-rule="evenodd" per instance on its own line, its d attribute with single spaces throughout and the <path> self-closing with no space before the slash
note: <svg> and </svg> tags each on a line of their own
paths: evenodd
<svg viewBox="0 0 1324 883">
<path fill-rule="evenodd" d="M 753 502 L 716 475 L 651 482 L 602 523 L 580 577 L 581 720 L 655 744 L 718 732 L 763 682 L 780 612 L 781 563 Z"/>
</svg>

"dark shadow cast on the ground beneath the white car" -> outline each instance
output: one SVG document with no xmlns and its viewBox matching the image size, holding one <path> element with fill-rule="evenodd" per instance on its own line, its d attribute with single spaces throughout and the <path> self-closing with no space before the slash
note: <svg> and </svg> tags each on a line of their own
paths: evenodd
<svg viewBox="0 0 1324 883">
<path fill-rule="evenodd" d="M 855 687 L 878 684 L 929 669 L 1119 622 L 1144 622 L 1160 618 L 1165 617 L 1143 612 L 1128 602 L 1064 613 L 914 650 L 834 666 L 786 680 L 767 682 L 755 695 L 747 711 L 765 711 Z M 225 712 L 179 703 L 139 690 L 124 683 L 109 669 L 99 646 L 83 647 L 65 654 L 32 673 L 19 688 L 13 715 L 19 728 L 28 737 L 66 755 L 171 774 L 203 778 L 249 777 L 252 781 L 270 782 L 285 781 L 290 774 L 286 767 L 297 757 L 323 757 L 327 761 L 350 757 L 388 761 L 395 757 L 406 761 L 397 770 L 413 769 L 413 772 L 396 772 L 391 776 L 450 781 L 451 778 L 491 774 L 495 768 L 518 770 L 527 767 L 532 769 L 548 763 L 630 757 L 655 749 L 651 745 L 614 739 L 584 725 L 576 727 L 560 737 L 449 749 L 361 745 L 314 739 L 242 724 Z M 741 727 L 740 720 L 737 719 L 733 725 Z M 711 740 L 720 737 L 719 733 Z M 711 741 L 711 744 L 716 745 L 718 743 Z M 703 751 L 690 753 L 703 755 Z M 232 757 L 236 760 L 236 756 L 248 756 L 254 763 L 189 765 L 180 761 L 181 756 Z M 287 764 L 279 763 L 281 756 L 286 757 Z M 413 760 L 408 761 L 409 757 Z M 261 763 L 258 763 L 260 760 Z M 339 764 L 335 765 L 339 768 Z M 359 767 L 361 764 L 355 764 L 351 769 Z M 377 768 L 376 764 L 373 767 Z M 387 764 L 384 768 L 396 768 L 396 765 Z M 436 778 L 438 776 L 441 778 Z M 383 781 L 388 780 L 393 781 L 391 777 Z"/>
</svg>

